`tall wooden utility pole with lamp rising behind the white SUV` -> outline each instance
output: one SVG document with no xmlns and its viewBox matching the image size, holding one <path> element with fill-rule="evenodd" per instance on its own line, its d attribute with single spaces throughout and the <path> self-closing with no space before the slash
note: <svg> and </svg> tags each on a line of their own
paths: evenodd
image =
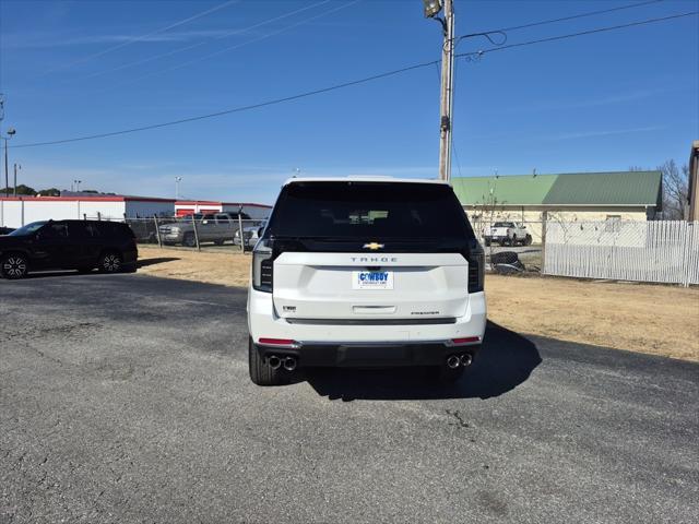
<svg viewBox="0 0 699 524">
<path fill-rule="evenodd" d="M 423 0 L 425 16 L 441 23 L 445 39 L 441 49 L 441 87 L 439 96 L 439 179 L 451 179 L 451 132 L 454 86 L 454 10 L 453 0 Z M 437 14 L 443 8 L 443 19 Z"/>
</svg>

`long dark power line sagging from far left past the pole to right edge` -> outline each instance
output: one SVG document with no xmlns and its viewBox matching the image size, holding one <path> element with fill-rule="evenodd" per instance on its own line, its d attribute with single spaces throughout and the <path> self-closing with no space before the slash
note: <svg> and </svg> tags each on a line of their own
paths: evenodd
<svg viewBox="0 0 699 524">
<path fill-rule="evenodd" d="M 651 23 L 655 23 L 655 22 L 663 22 L 663 21 L 668 21 L 668 20 L 680 19 L 680 17 L 684 17 L 684 16 L 691 16 L 691 15 L 696 15 L 698 13 L 699 13 L 699 11 L 691 11 L 691 12 L 688 12 L 688 13 L 675 14 L 675 15 L 663 16 L 663 17 L 657 17 L 657 19 L 649 19 L 649 20 L 643 20 L 643 21 L 639 21 L 639 22 L 632 22 L 632 23 L 628 23 L 628 24 L 614 25 L 614 26 L 608 26 L 608 27 L 599 27 L 596 29 L 583 31 L 583 32 L 579 32 L 579 33 L 571 33 L 571 34 L 567 34 L 567 35 L 552 36 L 552 37 L 548 37 L 548 38 L 541 38 L 541 39 L 537 39 L 537 40 L 523 41 L 523 43 L 520 43 L 520 44 L 510 44 L 508 46 L 495 47 L 495 48 L 491 48 L 491 49 L 484 49 L 482 51 L 462 52 L 462 53 L 455 55 L 455 57 L 457 58 L 471 58 L 471 57 L 474 57 L 474 56 L 482 56 L 482 55 L 485 55 L 487 52 L 501 51 L 501 50 L 511 49 L 511 48 L 514 48 L 514 47 L 531 46 L 531 45 L 534 45 L 534 44 L 542 44 L 542 43 L 547 43 L 547 41 L 561 40 L 561 39 L 565 39 L 565 38 L 573 38 L 573 37 L 582 36 L 582 35 L 591 35 L 591 34 L 595 34 L 595 33 L 621 29 L 621 28 L 627 28 L 627 27 L 636 27 L 636 26 L 651 24 Z M 286 96 L 286 97 L 283 97 L 283 98 L 275 98 L 275 99 L 272 99 L 272 100 L 262 102 L 262 103 L 259 103 L 259 104 L 252 104 L 252 105 L 248 105 L 248 106 L 239 106 L 239 107 L 236 107 L 236 108 L 233 108 L 233 109 L 225 109 L 225 110 L 222 110 L 222 111 L 210 112 L 210 114 L 206 114 L 206 115 L 199 115 L 199 116 L 196 116 L 196 117 L 182 118 L 182 119 L 179 119 L 179 120 L 171 120 L 171 121 L 168 121 L 168 122 L 154 123 L 154 124 L 142 126 L 142 127 L 138 127 L 138 128 L 123 129 L 123 130 L 120 130 L 120 131 L 111 131 L 111 132 L 106 132 L 106 133 L 91 134 L 91 135 L 86 135 L 86 136 L 76 136 L 76 138 L 73 138 L 73 139 L 54 140 L 54 141 L 47 141 L 47 142 L 34 142 L 34 143 L 28 143 L 28 144 L 17 144 L 17 145 L 11 146 L 11 148 L 12 147 L 36 147 L 36 146 L 42 146 L 42 145 L 66 144 L 66 143 L 71 143 L 71 142 L 81 142 L 81 141 L 85 141 L 85 140 L 104 139 L 104 138 L 108 138 L 108 136 L 117 136 L 117 135 L 121 135 L 121 134 L 135 133 L 135 132 L 139 132 L 139 131 L 146 131 L 146 130 L 151 130 L 151 129 L 166 128 L 166 127 L 170 127 L 170 126 L 177 126 L 177 124 L 180 124 L 180 123 L 187 123 L 187 122 L 193 122 L 193 121 L 197 121 L 197 120 L 204 120 L 204 119 L 209 119 L 209 118 L 221 117 L 221 116 L 230 115 L 230 114 L 234 114 L 234 112 L 242 112 L 242 111 L 248 111 L 248 110 L 252 110 L 252 109 L 259 109 L 261 107 L 274 106 L 274 105 L 284 104 L 284 103 L 287 103 L 287 102 L 297 100 L 297 99 L 300 99 L 300 98 L 307 98 L 307 97 L 319 95 L 319 94 L 322 94 L 322 93 L 329 93 L 331 91 L 342 90 L 342 88 L 351 87 L 351 86 L 358 85 L 358 84 L 365 84 L 367 82 L 372 82 L 375 80 L 386 79 L 388 76 L 394 76 L 396 74 L 405 73 L 405 72 L 408 72 L 408 71 L 414 71 L 414 70 L 417 70 L 417 69 L 427 68 L 427 67 L 430 67 L 430 66 L 434 66 L 434 64 L 440 63 L 440 62 L 441 62 L 441 60 L 431 60 L 429 62 L 416 63 L 416 64 L 413 64 L 413 66 L 407 66 L 405 68 L 395 69 L 393 71 L 388 71 L 388 72 L 384 72 L 384 73 L 379 73 L 379 74 L 375 74 L 375 75 L 371 75 L 371 76 L 366 76 L 364 79 L 354 80 L 354 81 L 350 81 L 350 82 L 344 82 L 344 83 L 341 83 L 341 84 L 335 84 L 335 85 L 332 85 L 332 86 L 329 86 L 329 87 L 322 87 L 322 88 L 315 90 L 315 91 L 308 91 L 308 92 L 305 92 L 305 93 L 299 93 L 297 95 Z"/>
</svg>

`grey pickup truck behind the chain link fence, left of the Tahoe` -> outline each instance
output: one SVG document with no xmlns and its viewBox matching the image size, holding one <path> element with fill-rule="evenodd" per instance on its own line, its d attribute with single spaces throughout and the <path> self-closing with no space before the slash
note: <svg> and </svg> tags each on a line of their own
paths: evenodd
<svg viewBox="0 0 699 524">
<path fill-rule="evenodd" d="M 241 213 L 244 221 L 250 217 Z M 194 231 L 197 224 L 197 231 Z M 233 240 L 235 231 L 238 229 L 238 213 L 216 213 L 213 215 L 190 215 L 179 222 L 166 224 L 158 228 L 163 243 L 181 243 L 193 248 L 199 243 L 214 242 L 222 245 L 227 240 Z"/>
</svg>

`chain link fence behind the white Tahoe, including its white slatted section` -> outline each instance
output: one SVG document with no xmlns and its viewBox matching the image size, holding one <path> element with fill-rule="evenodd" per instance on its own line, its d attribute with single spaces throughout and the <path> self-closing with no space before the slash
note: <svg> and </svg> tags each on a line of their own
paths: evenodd
<svg viewBox="0 0 699 524">
<path fill-rule="evenodd" d="M 100 216 L 87 217 L 106 219 Z M 114 221 L 114 218 L 109 218 Z M 125 217 L 141 245 L 250 252 L 265 221 Z M 471 219 L 487 266 L 581 278 L 699 284 L 699 223 Z"/>
</svg>

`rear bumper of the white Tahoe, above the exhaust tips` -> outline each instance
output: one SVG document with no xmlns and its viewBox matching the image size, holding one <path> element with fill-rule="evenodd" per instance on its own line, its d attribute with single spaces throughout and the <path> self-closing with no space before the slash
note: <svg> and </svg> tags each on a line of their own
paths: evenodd
<svg viewBox="0 0 699 524">
<path fill-rule="evenodd" d="M 475 355 L 485 325 L 484 293 L 471 294 L 465 314 L 448 323 L 360 325 L 291 323 L 275 313 L 271 294 L 251 289 L 248 295 L 248 329 L 260 355 L 295 356 L 299 366 L 441 365 L 449 355 Z M 450 345 L 454 338 L 467 337 L 477 337 L 478 342 Z M 289 340 L 294 344 L 265 345 L 260 338 Z"/>
</svg>

